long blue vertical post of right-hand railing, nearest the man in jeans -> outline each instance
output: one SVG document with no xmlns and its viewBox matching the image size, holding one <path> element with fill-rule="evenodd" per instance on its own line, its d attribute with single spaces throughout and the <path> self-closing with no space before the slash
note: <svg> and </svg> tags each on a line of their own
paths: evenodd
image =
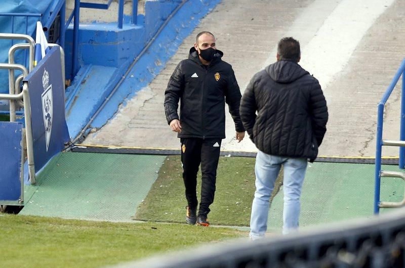
<svg viewBox="0 0 405 268">
<path fill-rule="evenodd" d="M 383 139 L 383 115 L 384 104 L 379 103 L 377 109 L 377 137 L 376 137 L 376 167 L 375 167 L 375 188 L 374 188 L 374 214 L 380 212 L 380 184 L 381 184 L 381 150 Z"/>
</svg>

